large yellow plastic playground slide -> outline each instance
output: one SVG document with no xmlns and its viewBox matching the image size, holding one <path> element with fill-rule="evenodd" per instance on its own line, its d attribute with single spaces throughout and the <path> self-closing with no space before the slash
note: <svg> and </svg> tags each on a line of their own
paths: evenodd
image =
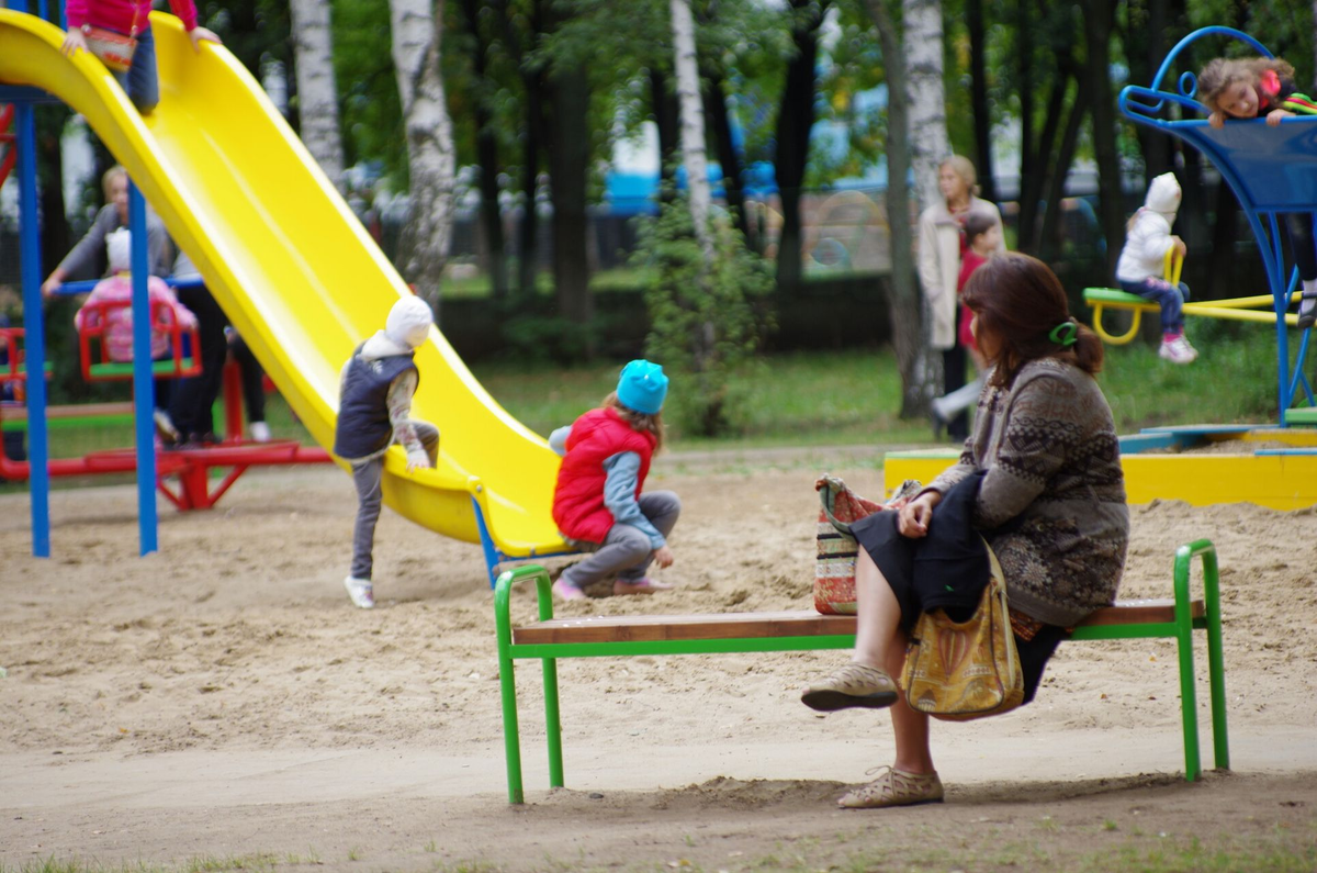
<svg viewBox="0 0 1317 873">
<path fill-rule="evenodd" d="M 245 67 L 198 55 L 178 18 L 153 13 L 161 103 L 145 119 L 101 63 L 61 54 L 63 32 L 0 9 L 0 82 L 42 88 L 80 112 L 192 256 L 292 409 L 333 444 L 338 373 L 407 286 Z M 440 429 L 436 469 L 385 466 L 385 501 L 431 530 L 478 542 L 471 497 L 495 543 L 524 557 L 562 542 L 549 508 L 557 456 L 475 381 L 436 330 L 416 352 L 414 415 Z"/>
</svg>

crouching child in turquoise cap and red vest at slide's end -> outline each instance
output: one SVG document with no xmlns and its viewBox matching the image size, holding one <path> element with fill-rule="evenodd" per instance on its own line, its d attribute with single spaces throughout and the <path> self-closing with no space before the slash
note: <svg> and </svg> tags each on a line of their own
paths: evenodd
<svg viewBox="0 0 1317 873">
<path fill-rule="evenodd" d="M 668 535 L 681 514 L 681 500 L 670 491 L 641 493 L 649 462 L 662 446 L 666 396 L 662 367 L 631 361 L 599 409 L 549 436 L 549 446 L 562 455 L 553 521 L 568 542 L 594 553 L 553 583 L 553 592 L 564 600 L 581 600 L 585 586 L 612 574 L 615 595 L 672 588 L 645 571 L 651 563 L 672 564 Z"/>
</svg>

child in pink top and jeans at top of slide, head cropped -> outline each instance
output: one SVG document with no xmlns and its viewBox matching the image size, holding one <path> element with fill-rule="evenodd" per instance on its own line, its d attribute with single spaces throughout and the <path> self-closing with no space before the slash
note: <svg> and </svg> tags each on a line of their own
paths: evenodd
<svg viewBox="0 0 1317 873">
<path fill-rule="evenodd" d="M 203 40 L 220 41 L 212 30 L 198 26 L 192 0 L 170 0 L 169 5 L 183 21 L 194 51 L 202 50 Z M 68 34 L 62 51 L 71 57 L 87 49 L 100 57 L 142 115 L 161 99 L 150 13 L 151 0 L 65 0 Z"/>
</svg>

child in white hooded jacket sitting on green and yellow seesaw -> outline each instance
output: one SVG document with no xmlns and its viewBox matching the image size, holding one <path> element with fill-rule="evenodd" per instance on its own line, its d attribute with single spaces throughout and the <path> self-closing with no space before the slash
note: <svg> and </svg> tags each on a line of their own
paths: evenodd
<svg viewBox="0 0 1317 873">
<path fill-rule="evenodd" d="M 1198 356 L 1184 336 L 1181 309 L 1189 298 L 1189 286 L 1180 282 L 1177 287 L 1162 278 L 1166 253 L 1173 249 L 1184 257 L 1187 252 L 1184 240 L 1171 233 L 1179 208 L 1180 183 L 1175 175 L 1163 173 L 1152 179 L 1147 199 L 1126 228 L 1115 280 L 1122 290 L 1162 306 L 1162 348 L 1158 355 L 1176 364 L 1189 364 Z"/>
</svg>

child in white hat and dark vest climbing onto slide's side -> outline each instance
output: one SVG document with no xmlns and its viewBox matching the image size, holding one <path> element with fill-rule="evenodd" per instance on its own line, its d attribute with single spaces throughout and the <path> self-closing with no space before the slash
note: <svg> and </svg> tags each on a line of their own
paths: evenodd
<svg viewBox="0 0 1317 873">
<path fill-rule="evenodd" d="M 433 323 L 425 301 L 404 297 L 389 311 L 385 330 L 358 346 L 342 367 L 333 454 L 352 466 L 357 485 L 352 572 L 342 584 L 352 603 L 362 609 L 375 605 L 370 576 L 385 452 L 394 443 L 406 448 L 407 472 L 433 467 L 439 458 L 439 429 L 410 417 L 412 394 L 420 384 L 415 352 Z"/>
</svg>

